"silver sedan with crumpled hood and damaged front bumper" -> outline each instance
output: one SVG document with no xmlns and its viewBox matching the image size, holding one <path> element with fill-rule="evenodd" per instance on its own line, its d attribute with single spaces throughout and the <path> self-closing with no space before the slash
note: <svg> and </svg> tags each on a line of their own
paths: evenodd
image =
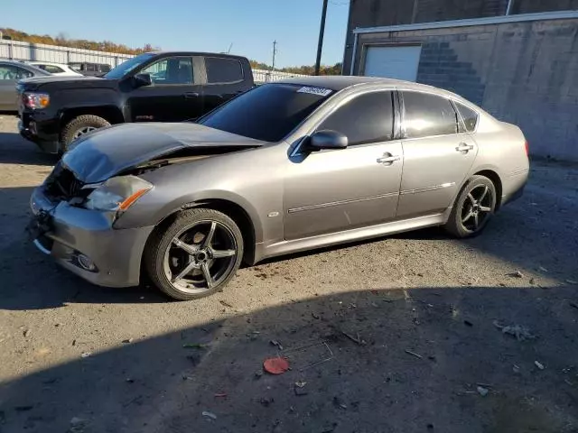
<svg viewBox="0 0 578 433">
<path fill-rule="evenodd" d="M 243 261 L 427 226 L 478 235 L 527 173 L 520 129 L 450 92 L 292 78 L 197 123 L 86 134 L 34 190 L 30 233 L 88 281 L 131 286 L 144 270 L 197 299 Z"/>
</svg>

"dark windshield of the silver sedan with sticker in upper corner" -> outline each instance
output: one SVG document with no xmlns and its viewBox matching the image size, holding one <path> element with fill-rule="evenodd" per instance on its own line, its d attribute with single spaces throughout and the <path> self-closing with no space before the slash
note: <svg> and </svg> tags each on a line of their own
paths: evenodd
<svg viewBox="0 0 578 433">
<path fill-rule="evenodd" d="M 279 142 L 331 96 L 328 88 L 265 84 L 232 99 L 199 124 L 266 142 Z"/>
</svg>

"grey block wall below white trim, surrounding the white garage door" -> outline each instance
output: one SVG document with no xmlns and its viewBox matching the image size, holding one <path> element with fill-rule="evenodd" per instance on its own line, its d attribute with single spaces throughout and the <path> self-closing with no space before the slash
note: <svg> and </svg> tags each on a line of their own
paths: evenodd
<svg viewBox="0 0 578 433">
<path fill-rule="evenodd" d="M 447 88 L 519 125 L 536 155 L 578 161 L 578 20 L 359 35 L 422 44 L 417 81 Z"/>
</svg>

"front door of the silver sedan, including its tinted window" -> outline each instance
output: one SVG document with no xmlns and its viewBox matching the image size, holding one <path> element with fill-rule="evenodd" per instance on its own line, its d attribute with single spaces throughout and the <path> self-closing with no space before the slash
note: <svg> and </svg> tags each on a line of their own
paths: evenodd
<svg viewBox="0 0 578 433">
<path fill-rule="evenodd" d="M 349 145 L 294 157 L 284 182 L 285 239 L 377 225 L 396 216 L 403 152 L 395 139 L 394 111 L 393 92 L 372 91 L 341 104 L 315 128 L 345 134 Z"/>
</svg>

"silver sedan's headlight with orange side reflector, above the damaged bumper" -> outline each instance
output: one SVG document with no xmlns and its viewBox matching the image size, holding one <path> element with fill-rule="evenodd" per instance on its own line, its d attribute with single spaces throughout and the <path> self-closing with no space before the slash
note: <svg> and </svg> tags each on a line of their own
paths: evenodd
<svg viewBox="0 0 578 433">
<path fill-rule="evenodd" d="M 83 188 L 94 189 L 85 202 L 87 209 L 123 212 L 153 189 L 153 185 L 136 176 L 120 176 L 99 185 L 85 185 Z"/>
</svg>

